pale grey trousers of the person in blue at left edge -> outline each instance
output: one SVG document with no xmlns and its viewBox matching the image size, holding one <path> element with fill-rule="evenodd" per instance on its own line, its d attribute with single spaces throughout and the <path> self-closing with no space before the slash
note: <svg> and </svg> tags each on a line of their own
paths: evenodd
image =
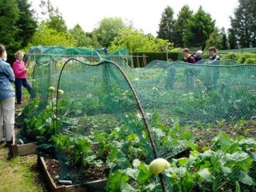
<svg viewBox="0 0 256 192">
<path fill-rule="evenodd" d="M 3 136 L 6 137 L 6 141 L 12 141 L 14 129 L 14 107 L 14 97 L 6 100 L 0 100 L 0 141 L 3 140 Z"/>
</svg>

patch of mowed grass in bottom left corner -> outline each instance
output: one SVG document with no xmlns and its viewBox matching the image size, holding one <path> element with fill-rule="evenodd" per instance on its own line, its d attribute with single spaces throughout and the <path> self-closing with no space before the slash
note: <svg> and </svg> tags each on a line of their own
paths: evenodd
<svg viewBox="0 0 256 192">
<path fill-rule="evenodd" d="M 37 156 L 18 156 L 9 159 L 10 149 L 0 145 L 0 192 L 46 192 L 37 166 Z"/>
</svg>

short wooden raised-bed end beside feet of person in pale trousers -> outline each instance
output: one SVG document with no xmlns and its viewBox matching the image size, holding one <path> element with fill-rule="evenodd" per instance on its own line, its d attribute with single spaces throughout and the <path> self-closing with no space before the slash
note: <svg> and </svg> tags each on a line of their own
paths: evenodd
<svg viewBox="0 0 256 192">
<path fill-rule="evenodd" d="M 30 155 L 35 154 L 37 149 L 37 143 L 36 142 L 30 142 L 28 144 L 16 144 L 15 134 L 13 134 L 12 139 L 12 156 L 17 155 Z"/>
</svg>

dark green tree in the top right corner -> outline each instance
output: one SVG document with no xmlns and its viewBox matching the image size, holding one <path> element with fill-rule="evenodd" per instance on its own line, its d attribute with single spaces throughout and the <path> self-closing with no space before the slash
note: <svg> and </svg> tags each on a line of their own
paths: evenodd
<svg viewBox="0 0 256 192">
<path fill-rule="evenodd" d="M 239 47 L 256 46 L 256 3 L 255 0 L 239 0 L 239 6 L 230 17 Z"/>
</svg>

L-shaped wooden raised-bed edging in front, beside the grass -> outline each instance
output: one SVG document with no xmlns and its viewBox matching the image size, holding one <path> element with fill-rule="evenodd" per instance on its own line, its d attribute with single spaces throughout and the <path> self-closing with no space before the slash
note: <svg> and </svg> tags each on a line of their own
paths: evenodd
<svg viewBox="0 0 256 192">
<path fill-rule="evenodd" d="M 48 188 L 51 192 L 92 192 L 98 190 L 104 190 L 107 185 L 107 179 L 101 179 L 97 181 L 87 182 L 83 185 L 60 185 L 57 186 L 49 171 L 47 170 L 47 165 L 44 157 L 38 156 L 38 164 L 42 170 L 43 176 L 45 176 L 45 180 Z"/>
</svg>

